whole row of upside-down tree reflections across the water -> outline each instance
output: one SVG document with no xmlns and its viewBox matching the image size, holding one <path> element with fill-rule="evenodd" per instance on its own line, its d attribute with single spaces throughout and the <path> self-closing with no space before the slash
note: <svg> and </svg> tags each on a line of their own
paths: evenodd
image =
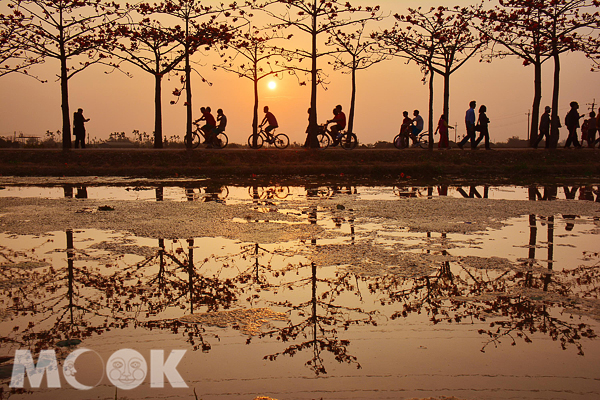
<svg viewBox="0 0 600 400">
<path fill-rule="evenodd" d="M 318 197 L 318 189 L 313 192 Z M 552 189 L 547 193 L 553 197 Z M 532 192 L 532 197 L 537 194 Z M 317 218 L 327 215 L 336 226 L 349 224 L 350 246 L 361 241 L 360 235 L 355 238 L 354 211 L 348 210 L 344 219 L 336 211 L 321 210 L 311 204 L 307 222 L 316 224 Z M 361 367 L 344 334 L 351 327 L 394 323 L 387 317 L 398 320 L 419 313 L 432 324 L 477 323 L 486 338 L 482 351 L 490 345 L 530 342 L 542 334 L 583 355 L 583 340 L 596 334 L 576 318 L 577 312 L 593 311 L 594 304 L 586 299 L 598 299 L 599 256 L 586 253 L 593 265 L 555 271 L 554 217 L 530 215 L 528 220 L 526 258 L 520 264 L 506 260 L 493 267 L 491 258 L 453 257 L 442 233 L 441 247 L 428 246 L 423 252 L 446 258 L 434 273 L 416 277 L 358 275 L 356 270 L 317 265 L 310 252 L 302 261 L 288 262 L 286 258 L 296 256 L 294 250 L 269 250 L 259 243 L 239 244 L 234 254 L 205 256 L 199 239 L 172 240 L 170 248 L 166 239 L 156 239 L 158 249 L 139 262 L 92 268 L 77 260 L 73 232 L 67 231 L 66 268 L 2 265 L 3 280 L 14 282 L 0 290 L 9 299 L 3 307 L 5 314 L 14 316 L 15 326 L 0 340 L 38 352 L 61 341 L 135 326 L 182 334 L 192 349 L 209 351 L 210 339 L 219 338 L 218 330 L 182 319 L 182 314 L 270 306 L 285 311 L 288 321 L 269 326 L 254 338 L 248 336 L 247 343 L 274 338 L 272 346 L 277 348 L 265 359 L 305 356 L 304 364 L 316 375 L 328 372 L 328 357 Z M 547 227 L 547 260 L 536 258 L 544 247 L 540 222 Z M 316 238 L 310 240 L 310 248 L 316 245 Z M 368 291 L 361 291 L 363 287 Z M 483 328 L 483 323 L 489 325 Z"/>
</svg>

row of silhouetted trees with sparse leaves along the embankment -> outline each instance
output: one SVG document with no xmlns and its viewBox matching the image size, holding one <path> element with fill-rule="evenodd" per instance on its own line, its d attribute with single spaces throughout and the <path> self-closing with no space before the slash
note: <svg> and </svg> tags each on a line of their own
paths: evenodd
<svg viewBox="0 0 600 400">
<path fill-rule="evenodd" d="M 476 55 L 481 60 L 513 56 L 534 66 L 531 131 L 537 131 L 541 100 L 541 68 L 554 63 L 552 132 L 558 136 L 560 55 L 581 51 L 592 65 L 600 62 L 598 0 L 499 0 L 470 7 L 409 8 L 393 16 L 388 29 L 367 31 L 381 21 L 379 7 L 355 7 L 341 1 L 248 0 L 245 4 L 204 5 L 200 0 L 162 0 L 121 7 L 101 0 L 8 0 L 11 9 L 0 14 L 0 77 L 9 73 L 32 75 L 46 59 L 60 61 L 63 148 L 71 147 L 68 82 L 93 64 L 125 70 L 134 65 L 155 77 L 155 147 L 162 147 L 162 78 L 181 74 L 187 108 L 186 140 L 192 132 L 192 72 L 207 55 L 217 51 L 215 67 L 254 83 L 253 132 L 258 125 L 258 82 L 290 73 L 300 84 L 311 85 L 309 131 L 311 147 L 318 147 L 317 89 L 324 85 L 319 62 L 329 57 L 334 69 L 352 74 L 348 130 L 354 122 L 356 73 L 385 59 L 400 57 L 416 63 L 429 83 L 429 131 L 433 121 L 434 77 L 444 81 L 444 114 L 449 117 L 450 77 Z M 205 2 L 206 3 L 206 2 Z M 253 24 L 253 13 L 264 14 L 265 26 Z M 294 33 L 309 46 L 290 48 Z M 193 58 L 193 60 L 192 60 Z M 305 66 L 306 61 L 310 65 Z M 594 69 L 592 67 L 592 69 Z M 175 103 L 172 101 L 171 103 Z M 432 138 L 431 138 L 432 139 Z M 535 140 L 535 135 L 531 136 Z M 430 140 L 433 145 L 433 140 Z"/>
</svg>

